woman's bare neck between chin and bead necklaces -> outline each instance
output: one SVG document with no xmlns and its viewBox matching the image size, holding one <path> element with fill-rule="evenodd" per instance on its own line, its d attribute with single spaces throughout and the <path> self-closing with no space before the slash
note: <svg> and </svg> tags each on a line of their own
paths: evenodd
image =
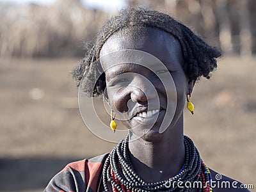
<svg viewBox="0 0 256 192">
<path fill-rule="evenodd" d="M 184 164 L 185 157 L 183 115 L 172 129 L 163 133 L 159 141 L 139 138 L 129 142 L 129 150 L 134 170 L 147 182 L 175 176 Z"/>
</svg>

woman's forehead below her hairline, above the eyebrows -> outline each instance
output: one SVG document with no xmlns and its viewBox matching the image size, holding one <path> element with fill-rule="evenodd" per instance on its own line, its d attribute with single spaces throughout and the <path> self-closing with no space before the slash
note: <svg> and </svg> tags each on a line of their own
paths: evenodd
<svg viewBox="0 0 256 192">
<path fill-rule="evenodd" d="M 140 31 L 124 29 L 111 35 L 100 50 L 100 57 L 104 58 L 112 52 L 127 49 L 147 52 L 163 62 L 168 68 L 175 67 L 175 65 L 180 67 L 184 63 L 179 41 L 163 30 L 149 27 L 142 28 Z M 120 54 L 119 57 L 125 59 L 127 55 Z M 100 61 L 100 63 L 105 69 L 113 65 L 113 62 L 109 60 Z"/>
</svg>

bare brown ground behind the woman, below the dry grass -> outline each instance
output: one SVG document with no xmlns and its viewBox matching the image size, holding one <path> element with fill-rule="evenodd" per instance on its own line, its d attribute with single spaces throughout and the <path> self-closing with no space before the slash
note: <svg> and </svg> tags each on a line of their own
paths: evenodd
<svg viewBox="0 0 256 192">
<path fill-rule="evenodd" d="M 185 134 L 212 169 L 255 183 L 256 58 L 220 61 L 193 92 Z M 65 164 L 109 152 L 84 125 L 68 72 L 77 59 L 0 60 L 0 191 L 42 191 Z"/>
</svg>

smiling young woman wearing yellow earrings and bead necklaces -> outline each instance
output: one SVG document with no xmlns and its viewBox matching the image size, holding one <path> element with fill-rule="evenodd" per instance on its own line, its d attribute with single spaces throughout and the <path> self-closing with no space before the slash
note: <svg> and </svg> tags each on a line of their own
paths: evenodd
<svg viewBox="0 0 256 192">
<path fill-rule="evenodd" d="M 195 81 L 209 78 L 220 56 L 156 10 L 133 7 L 108 20 L 72 76 L 87 95 L 104 93 L 129 134 L 109 154 L 68 164 L 45 191 L 248 191 L 207 168 L 183 134 L 184 104 L 193 113 Z"/>
</svg>

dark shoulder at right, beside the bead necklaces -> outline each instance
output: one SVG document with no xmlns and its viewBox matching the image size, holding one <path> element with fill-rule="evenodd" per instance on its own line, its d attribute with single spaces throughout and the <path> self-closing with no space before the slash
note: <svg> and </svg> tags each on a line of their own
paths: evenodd
<svg viewBox="0 0 256 192">
<path fill-rule="evenodd" d="M 221 191 L 241 191 L 241 192 L 248 192 L 249 190 L 246 189 L 245 185 L 241 182 L 234 180 L 230 177 L 225 175 L 221 175 L 214 170 L 209 168 L 212 176 L 212 191 L 214 192 L 221 192 Z"/>
</svg>

